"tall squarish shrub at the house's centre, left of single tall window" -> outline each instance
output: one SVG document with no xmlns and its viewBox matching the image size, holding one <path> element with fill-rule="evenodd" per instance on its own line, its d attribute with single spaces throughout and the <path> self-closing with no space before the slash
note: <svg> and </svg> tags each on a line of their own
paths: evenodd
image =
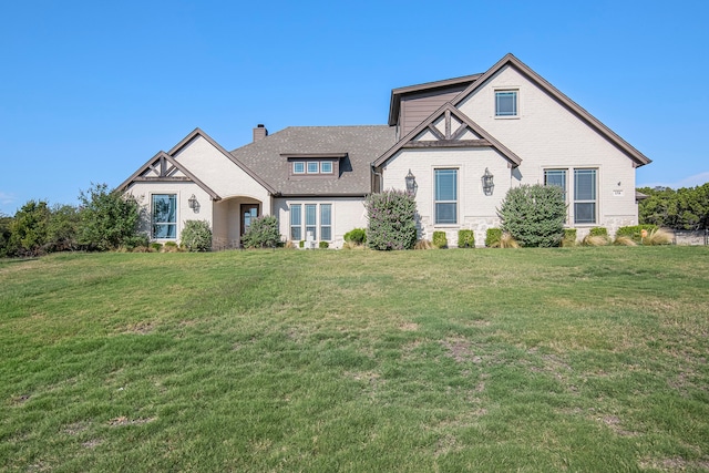
<svg viewBox="0 0 709 473">
<path fill-rule="evenodd" d="M 417 243 L 417 203 L 403 191 L 372 194 L 364 202 L 367 244 L 372 249 L 411 249 Z"/>
</svg>

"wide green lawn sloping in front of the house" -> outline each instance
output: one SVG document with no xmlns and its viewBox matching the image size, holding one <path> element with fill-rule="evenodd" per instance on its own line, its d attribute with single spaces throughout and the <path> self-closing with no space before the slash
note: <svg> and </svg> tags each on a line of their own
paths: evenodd
<svg viewBox="0 0 709 473">
<path fill-rule="evenodd" d="M 2 471 L 707 471 L 709 249 L 0 261 Z"/>
</svg>

